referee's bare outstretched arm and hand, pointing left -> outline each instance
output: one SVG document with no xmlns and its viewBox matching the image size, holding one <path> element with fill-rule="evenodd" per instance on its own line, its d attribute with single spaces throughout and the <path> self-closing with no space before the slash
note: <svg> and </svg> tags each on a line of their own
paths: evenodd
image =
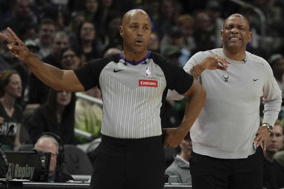
<svg viewBox="0 0 284 189">
<path fill-rule="evenodd" d="M 56 90 L 84 91 L 83 85 L 80 83 L 73 70 L 61 70 L 44 63 L 30 52 L 25 43 L 23 43 L 9 27 L 7 30 L 12 38 L 2 33 L 0 33 L 0 37 L 10 43 L 7 45 L 10 54 L 25 61 L 38 79 Z"/>
</svg>

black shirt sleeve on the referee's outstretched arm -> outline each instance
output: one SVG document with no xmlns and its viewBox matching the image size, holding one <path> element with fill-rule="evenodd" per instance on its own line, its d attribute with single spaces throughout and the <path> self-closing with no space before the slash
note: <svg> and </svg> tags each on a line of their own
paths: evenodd
<svg viewBox="0 0 284 189">
<path fill-rule="evenodd" d="M 109 58 L 99 58 L 89 61 L 84 66 L 74 70 L 85 91 L 99 84 L 101 71 L 109 62 Z"/>
</svg>

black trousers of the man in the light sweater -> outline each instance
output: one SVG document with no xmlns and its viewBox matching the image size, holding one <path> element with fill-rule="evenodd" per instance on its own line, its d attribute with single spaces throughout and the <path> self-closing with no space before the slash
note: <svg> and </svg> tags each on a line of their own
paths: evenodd
<svg viewBox="0 0 284 189">
<path fill-rule="evenodd" d="M 262 189 L 261 146 L 244 159 L 220 159 L 192 152 L 192 189 Z"/>
</svg>

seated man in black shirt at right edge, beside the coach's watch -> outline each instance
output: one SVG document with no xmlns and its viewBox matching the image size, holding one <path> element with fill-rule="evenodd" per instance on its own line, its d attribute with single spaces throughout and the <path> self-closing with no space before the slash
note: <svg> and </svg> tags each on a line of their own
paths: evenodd
<svg viewBox="0 0 284 189">
<path fill-rule="evenodd" d="M 283 143 L 283 123 L 276 120 L 273 131 L 266 142 L 266 151 L 263 159 L 263 187 L 279 189 L 284 187 L 284 167 L 273 155 L 280 150 Z"/>
</svg>

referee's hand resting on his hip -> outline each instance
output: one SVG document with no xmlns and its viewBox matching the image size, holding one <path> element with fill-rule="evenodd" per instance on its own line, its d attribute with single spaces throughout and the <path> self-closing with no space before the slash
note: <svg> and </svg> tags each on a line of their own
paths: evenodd
<svg viewBox="0 0 284 189">
<path fill-rule="evenodd" d="M 163 130 L 164 130 L 164 133 L 166 134 L 166 138 L 163 144 L 164 148 L 166 146 L 170 146 L 174 148 L 177 147 L 181 143 L 185 135 L 188 133 L 188 131 L 184 132 L 177 128 L 166 128 Z"/>
</svg>

